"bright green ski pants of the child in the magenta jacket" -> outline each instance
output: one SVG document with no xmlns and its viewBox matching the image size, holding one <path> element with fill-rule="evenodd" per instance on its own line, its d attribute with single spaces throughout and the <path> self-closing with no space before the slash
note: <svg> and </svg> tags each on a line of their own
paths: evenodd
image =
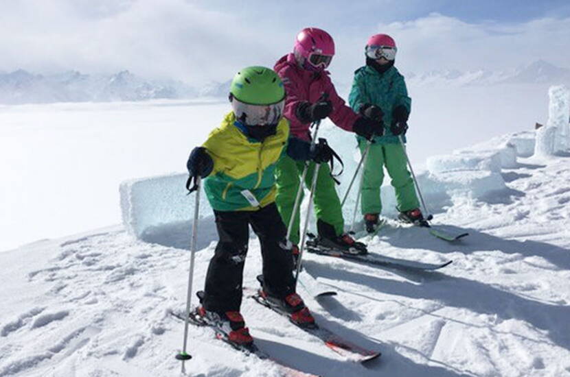
<svg viewBox="0 0 570 377">
<path fill-rule="evenodd" d="M 275 169 L 275 178 L 277 179 L 275 203 L 277 203 L 277 208 L 279 208 L 285 226 L 289 226 L 289 220 L 295 205 L 295 197 L 297 197 L 297 189 L 299 189 L 299 182 L 301 181 L 300 177 L 304 168 L 304 161 L 295 161 L 286 155 L 282 156 L 277 162 L 277 169 Z M 314 171 L 315 162 L 311 161 L 305 176 L 305 186 L 308 189 L 310 189 L 312 184 Z M 302 195 L 303 193 L 301 192 L 301 200 Z M 339 195 L 337 195 L 337 189 L 334 187 L 334 180 L 330 176 L 330 167 L 326 164 L 321 164 L 319 168 L 313 203 L 315 204 L 317 219 L 333 226 L 337 236 L 343 234 L 344 220 L 341 201 L 339 200 Z M 289 240 L 295 243 L 295 245 L 299 245 L 299 223 L 299 208 L 297 208 Z"/>
</svg>

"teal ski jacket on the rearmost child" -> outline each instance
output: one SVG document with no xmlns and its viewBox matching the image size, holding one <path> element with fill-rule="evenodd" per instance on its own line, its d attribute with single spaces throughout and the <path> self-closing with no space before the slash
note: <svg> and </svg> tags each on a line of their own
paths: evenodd
<svg viewBox="0 0 570 377">
<path fill-rule="evenodd" d="M 403 105 L 408 114 L 411 110 L 411 98 L 404 82 L 404 76 L 398 72 L 395 66 L 391 66 L 385 73 L 379 73 L 372 66 L 361 66 L 354 71 L 354 80 L 348 96 L 350 107 L 358 112 L 364 104 L 378 106 L 384 112 L 384 135 L 376 136 L 376 143 L 398 144 L 398 136 L 390 131 L 392 122 L 392 110 L 396 106 Z M 357 136 L 358 141 L 364 140 Z M 404 136 L 404 142 L 406 141 Z"/>
</svg>

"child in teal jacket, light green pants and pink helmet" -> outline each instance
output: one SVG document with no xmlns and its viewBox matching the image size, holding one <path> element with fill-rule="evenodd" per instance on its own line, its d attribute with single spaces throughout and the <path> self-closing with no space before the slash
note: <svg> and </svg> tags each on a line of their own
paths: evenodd
<svg viewBox="0 0 570 377">
<path fill-rule="evenodd" d="M 396 191 L 400 219 L 418 222 L 423 219 L 418 208 L 418 197 L 400 138 L 405 143 L 407 120 L 411 109 L 404 76 L 394 66 L 396 42 L 386 34 L 376 34 L 366 45 L 366 65 L 354 73 L 350 90 L 350 106 L 364 117 L 384 123 L 383 136 L 376 136 L 369 147 L 363 169 L 362 206 L 368 232 L 374 232 L 382 211 L 380 186 L 384 180 L 384 167 Z M 365 138 L 357 137 L 361 154 L 367 148 Z"/>
</svg>

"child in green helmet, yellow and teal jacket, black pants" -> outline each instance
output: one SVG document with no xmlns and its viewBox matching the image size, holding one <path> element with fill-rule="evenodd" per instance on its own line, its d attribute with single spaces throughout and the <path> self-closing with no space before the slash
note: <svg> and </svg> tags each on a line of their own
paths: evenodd
<svg viewBox="0 0 570 377">
<path fill-rule="evenodd" d="M 293 255 L 275 205 L 275 165 L 289 136 L 288 121 L 282 117 L 284 86 L 273 70 L 251 66 L 233 77 L 229 99 L 233 111 L 194 148 L 187 162 L 189 184 L 198 175 L 205 178 L 219 236 L 197 314 L 227 340 L 249 344 L 253 339 L 240 305 L 250 225 L 261 243 L 263 297 L 301 326 L 315 319 L 295 293 Z"/>
</svg>

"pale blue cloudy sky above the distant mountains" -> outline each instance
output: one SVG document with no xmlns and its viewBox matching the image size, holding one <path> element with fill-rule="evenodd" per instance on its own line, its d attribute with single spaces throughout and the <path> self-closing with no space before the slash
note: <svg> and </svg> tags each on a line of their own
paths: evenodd
<svg viewBox="0 0 570 377">
<path fill-rule="evenodd" d="M 570 62 L 570 1 L 19 0 L 1 10 L 0 71 L 225 81 L 242 66 L 272 66 L 306 26 L 332 34 L 331 71 L 343 77 L 378 32 L 396 39 L 404 73 Z"/>
</svg>

